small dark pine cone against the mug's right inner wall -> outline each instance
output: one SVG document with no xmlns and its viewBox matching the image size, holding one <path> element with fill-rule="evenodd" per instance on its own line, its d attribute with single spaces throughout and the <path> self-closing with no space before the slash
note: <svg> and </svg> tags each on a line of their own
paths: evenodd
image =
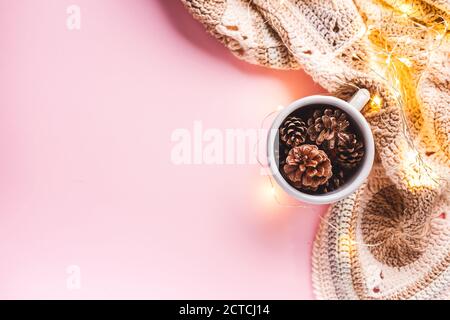
<svg viewBox="0 0 450 320">
<path fill-rule="evenodd" d="M 354 134 L 344 135 L 338 140 L 336 161 L 344 168 L 354 168 L 364 156 L 364 144 Z"/>
</svg>

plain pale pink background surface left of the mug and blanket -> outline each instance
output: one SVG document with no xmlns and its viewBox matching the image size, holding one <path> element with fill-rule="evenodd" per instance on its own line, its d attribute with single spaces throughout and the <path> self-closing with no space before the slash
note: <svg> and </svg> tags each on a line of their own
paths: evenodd
<svg viewBox="0 0 450 320">
<path fill-rule="evenodd" d="M 325 207 L 170 160 L 174 129 L 257 128 L 308 76 L 238 61 L 177 0 L 0 0 L 0 45 L 0 298 L 313 298 Z"/>
</svg>

